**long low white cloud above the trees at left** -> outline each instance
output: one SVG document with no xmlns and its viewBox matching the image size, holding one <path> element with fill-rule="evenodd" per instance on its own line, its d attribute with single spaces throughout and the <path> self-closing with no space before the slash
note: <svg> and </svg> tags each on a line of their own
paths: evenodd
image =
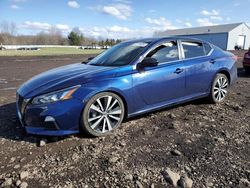
<svg viewBox="0 0 250 188">
<path fill-rule="evenodd" d="M 38 31 L 38 32 L 40 31 L 48 32 L 52 28 L 56 28 L 63 33 L 69 32 L 71 30 L 70 27 L 65 24 L 52 25 L 46 22 L 30 22 L 30 21 L 26 21 L 23 24 L 19 25 L 18 27 L 21 29 L 27 29 L 27 30 Z"/>
</svg>

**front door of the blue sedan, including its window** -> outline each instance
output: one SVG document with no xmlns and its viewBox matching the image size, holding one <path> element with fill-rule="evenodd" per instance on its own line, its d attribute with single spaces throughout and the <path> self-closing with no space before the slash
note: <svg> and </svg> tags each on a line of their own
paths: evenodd
<svg viewBox="0 0 250 188">
<path fill-rule="evenodd" d="M 158 65 L 133 74 L 137 110 L 174 101 L 185 95 L 185 67 L 179 59 L 176 41 L 165 41 L 146 57 L 155 58 Z"/>
</svg>

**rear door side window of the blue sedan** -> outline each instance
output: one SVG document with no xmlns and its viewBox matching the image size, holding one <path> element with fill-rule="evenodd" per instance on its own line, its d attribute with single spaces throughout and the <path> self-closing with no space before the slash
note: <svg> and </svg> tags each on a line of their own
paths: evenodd
<svg viewBox="0 0 250 188">
<path fill-rule="evenodd" d="M 204 48 L 201 42 L 182 41 L 185 58 L 204 56 Z"/>
</svg>

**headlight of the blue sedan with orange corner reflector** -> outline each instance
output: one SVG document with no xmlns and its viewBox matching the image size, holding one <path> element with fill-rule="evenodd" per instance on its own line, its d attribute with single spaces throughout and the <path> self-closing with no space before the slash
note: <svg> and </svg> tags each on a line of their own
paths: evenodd
<svg viewBox="0 0 250 188">
<path fill-rule="evenodd" d="M 40 95 L 35 97 L 32 100 L 32 104 L 46 104 L 46 103 L 52 103 L 56 101 L 61 101 L 61 100 L 67 100 L 70 99 L 72 94 L 79 88 L 80 86 L 75 86 L 67 89 L 63 89 L 60 91 L 48 93 L 45 95 Z"/>
</svg>

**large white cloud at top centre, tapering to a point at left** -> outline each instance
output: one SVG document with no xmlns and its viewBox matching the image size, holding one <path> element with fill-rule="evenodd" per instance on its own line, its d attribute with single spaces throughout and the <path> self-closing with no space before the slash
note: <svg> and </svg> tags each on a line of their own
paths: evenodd
<svg viewBox="0 0 250 188">
<path fill-rule="evenodd" d="M 130 5 L 122 3 L 106 5 L 106 6 L 98 6 L 90 9 L 96 10 L 103 14 L 114 16 L 115 18 L 120 20 L 127 20 L 128 17 L 130 17 L 132 14 L 132 8 L 130 7 Z"/>
</svg>

